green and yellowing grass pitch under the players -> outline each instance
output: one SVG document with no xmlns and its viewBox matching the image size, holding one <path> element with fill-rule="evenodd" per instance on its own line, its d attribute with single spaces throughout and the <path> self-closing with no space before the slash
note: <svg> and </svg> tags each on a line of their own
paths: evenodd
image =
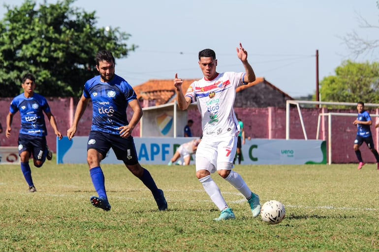
<svg viewBox="0 0 379 252">
<path fill-rule="evenodd" d="M 19 166 L 0 166 L 0 252 L 374 252 L 379 251 L 379 170 L 368 164 L 236 166 L 261 203 L 284 203 L 277 225 L 253 218 L 246 199 L 214 180 L 236 220 L 219 211 L 194 166 L 146 166 L 168 211 L 123 165 L 103 165 L 109 212 L 94 208 L 87 165 L 32 167 L 36 193 Z"/>
</svg>

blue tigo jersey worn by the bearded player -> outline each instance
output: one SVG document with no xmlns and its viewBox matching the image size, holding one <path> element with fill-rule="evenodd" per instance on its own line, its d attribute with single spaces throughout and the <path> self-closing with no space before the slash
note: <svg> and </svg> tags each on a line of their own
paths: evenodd
<svg viewBox="0 0 379 252">
<path fill-rule="evenodd" d="M 91 131 L 120 135 L 118 128 L 129 124 L 127 104 L 137 99 L 130 84 L 118 75 L 109 83 L 101 82 L 100 76 L 96 76 L 86 82 L 83 95 L 93 103 Z"/>
</svg>

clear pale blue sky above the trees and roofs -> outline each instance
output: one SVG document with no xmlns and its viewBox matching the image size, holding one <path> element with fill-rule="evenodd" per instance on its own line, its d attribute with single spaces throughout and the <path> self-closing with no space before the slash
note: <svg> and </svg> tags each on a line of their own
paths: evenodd
<svg viewBox="0 0 379 252">
<path fill-rule="evenodd" d="M 0 19 L 3 3 L 23 2 L 0 0 Z M 316 50 L 321 81 L 334 75 L 343 60 L 354 59 L 341 37 L 353 30 L 368 39 L 378 34 L 378 29 L 359 28 L 359 15 L 379 25 L 376 0 L 76 0 L 73 6 L 96 11 L 98 27 L 131 34 L 127 44 L 139 48 L 116 61 L 116 74 L 133 86 L 173 79 L 175 73 L 202 78 L 197 54 L 205 48 L 215 50 L 218 72 L 243 71 L 236 55 L 241 42 L 255 75 L 292 97 L 315 93 Z"/>
</svg>

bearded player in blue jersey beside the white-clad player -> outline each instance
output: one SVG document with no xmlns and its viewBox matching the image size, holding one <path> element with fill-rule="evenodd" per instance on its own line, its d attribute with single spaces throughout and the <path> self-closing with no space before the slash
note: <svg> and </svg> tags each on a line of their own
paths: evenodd
<svg viewBox="0 0 379 252">
<path fill-rule="evenodd" d="M 93 118 L 87 144 L 87 162 L 97 196 L 91 197 L 91 203 L 105 211 L 111 209 L 105 190 L 104 175 L 100 161 L 110 148 L 117 159 L 138 177 L 152 192 L 160 211 L 167 210 L 163 191 L 158 189 L 150 172 L 138 163 L 137 152 L 131 133 L 142 117 L 142 108 L 133 88 L 115 74 L 115 58 L 109 51 L 100 51 L 96 55 L 96 69 L 100 75 L 88 80 L 79 100 L 71 128 L 67 137 L 71 140 L 76 133 L 79 119 L 88 103 L 92 100 Z M 130 121 L 126 118 L 126 108 L 133 110 Z"/>
</svg>

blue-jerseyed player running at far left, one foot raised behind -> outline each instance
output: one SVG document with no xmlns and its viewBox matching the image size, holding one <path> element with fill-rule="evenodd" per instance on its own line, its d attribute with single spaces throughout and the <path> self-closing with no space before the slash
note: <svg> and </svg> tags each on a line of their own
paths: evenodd
<svg viewBox="0 0 379 252">
<path fill-rule="evenodd" d="M 29 185 L 29 192 L 34 193 L 37 190 L 34 187 L 32 171 L 29 166 L 31 155 L 33 155 L 35 167 L 41 167 L 46 158 L 48 160 L 52 158 L 52 152 L 46 144 L 47 130 L 43 112 L 47 115 L 55 135 L 60 140 L 62 139 L 62 134 L 58 130 L 57 122 L 51 113 L 46 98 L 34 93 L 35 78 L 32 74 L 26 74 L 23 77 L 22 87 L 24 93 L 16 96 L 10 104 L 9 113 L 6 116 L 5 135 L 7 138 L 10 137 L 13 116 L 16 112 L 20 111 L 21 129 L 18 137 L 18 150 L 21 160 L 21 170 Z"/>
</svg>

